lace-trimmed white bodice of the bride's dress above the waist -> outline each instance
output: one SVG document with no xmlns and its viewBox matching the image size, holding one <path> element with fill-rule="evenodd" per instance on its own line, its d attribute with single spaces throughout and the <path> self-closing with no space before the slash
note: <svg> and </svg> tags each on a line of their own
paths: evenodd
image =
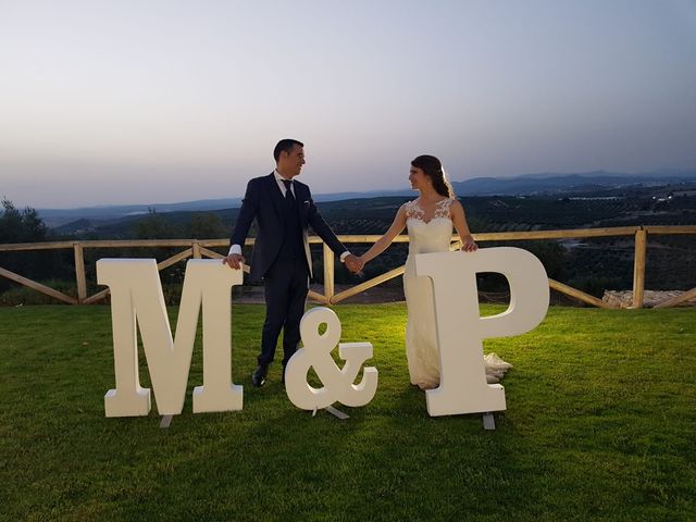
<svg viewBox="0 0 696 522">
<path fill-rule="evenodd" d="M 446 252 L 452 238 L 452 221 L 449 206 L 452 199 L 443 199 L 435 206 L 435 213 L 425 221 L 425 212 L 415 202 L 406 203 L 406 226 L 409 231 L 409 256 L 415 253 Z"/>
</svg>

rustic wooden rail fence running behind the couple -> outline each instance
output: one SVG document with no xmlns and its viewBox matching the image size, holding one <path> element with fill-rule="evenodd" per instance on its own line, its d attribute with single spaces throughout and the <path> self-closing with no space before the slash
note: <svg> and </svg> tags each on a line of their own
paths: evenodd
<svg viewBox="0 0 696 522">
<path fill-rule="evenodd" d="M 634 238 L 634 263 L 633 263 L 633 308 L 643 308 L 644 290 L 645 290 L 645 260 L 647 256 L 648 236 L 651 235 L 675 235 L 675 234 L 696 234 L 696 226 L 621 226 L 611 228 L 577 228 L 562 231 L 536 231 L 536 232 L 502 232 L 502 233 L 484 233 L 474 234 L 476 243 L 485 241 L 515 241 L 515 240 L 535 240 L 535 239 L 571 239 L 571 238 L 589 238 L 589 237 L 610 237 L 610 236 L 629 236 Z M 347 236 L 341 235 L 338 238 L 345 245 L 353 244 L 372 244 L 381 236 Z M 395 243 L 408 243 L 408 236 L 398 236 Z M 310 243 L 322 243 L 319 237 L 310 237 Z M 0 245 L 0 252 L 13 251 L 30 251 L 30 250 L 53 250 L 53 249 L 73 249 L 75 256 L 75 278 L 77 282 L 77 298 L 63 294 L 54 288 L 32 281 L 20 274 L 11 272 L 0 266 L 0 276 L 7 277 L 15 283 L 33 288 L 37 291 L 51 296 L 60 301 L 70 304 L 91 304 L 107 297 L 109 289 L 98 291 L 91 296 L 87 295 L 87 277 L 85 272 L 85 249 L 89 248 L 185 248 L 181 252 L 158 263 L 158 269 L 163 270 L 172 264 L 188 258 L 212 258 L 221 259 L 223 256 L 219 252 L 210 250 L 215 247 L 226 248 L 228 239 L 144 239 L 144 240 L 91 240 L 91 241 L 55 241 L 55 243 L 26 243 L 26 244 L 5 244 Z M 253 239 L 248 239 L 247 245 L 253 245 Z M 453 236 L 452 249 L 459 248 L 459 238 Z M 336 294 L 334 290 L 334 252 L 324 245 L 324 291 L 319 294 L 310 290 L 310 298 L 325 303 L 335 304 L 351 296 L 366 290 L 373 286 L 377 286 L 388 279 L 397 277 L 403 273 L 403 266 L 390 270 L 384 274 L 373 277 L 358 285 L 352 286 L 344 291 Z M 245 266 L 245 271 L 249 272 L 249 268 Z M 579 299 L 588 304 L 599 308 L 617 308 L 577 288 L 559 283 L 555 279 L 548 279 L 549 287 Z M 672 297 L 659 302 L 654 308 L 669 308 L 680 304 L 683 301 L 696 297 L 696 288 L 692 288 L 676 297 Z"/>
</svg>

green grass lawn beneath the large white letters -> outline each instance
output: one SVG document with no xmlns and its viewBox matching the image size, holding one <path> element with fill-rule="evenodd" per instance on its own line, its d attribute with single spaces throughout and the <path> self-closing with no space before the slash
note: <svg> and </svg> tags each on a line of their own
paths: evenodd
<svg viewBox="0 0 696 522">
<path fill-rule="evenodd" d="M 335 310 L 380 371 L 372 402 L 339 407 L 349 420 L 295 408 L 278 366 L 251 386 L 263 309 L 248 304 L 233 307 L 244 410 L 191 413 L 198 345 L 184 412 L 160 428 L 154 405 L 104 418 L 108 307 L 0 309 L 0 519 L 696 520 L 694 309 L 552 308 L 534 332 L 486 341 L 514 365 L 495 432 L 427 415 L 403 304 Z"/>
</svg>

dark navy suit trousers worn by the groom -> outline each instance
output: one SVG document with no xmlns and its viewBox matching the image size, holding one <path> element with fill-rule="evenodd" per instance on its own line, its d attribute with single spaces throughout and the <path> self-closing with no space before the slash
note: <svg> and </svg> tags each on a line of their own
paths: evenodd
<svg viewBox="0 0 696 522">
<path fill-rule="evenodd" d="M 283 330 L 283 366 L 297 350 L 300 320 L 309 291 L 309 273 L 303 256 L 278 257 L 263 277 L 265 321 L 261 333 L 259 364 L 270 364 Z"/>
</svg>

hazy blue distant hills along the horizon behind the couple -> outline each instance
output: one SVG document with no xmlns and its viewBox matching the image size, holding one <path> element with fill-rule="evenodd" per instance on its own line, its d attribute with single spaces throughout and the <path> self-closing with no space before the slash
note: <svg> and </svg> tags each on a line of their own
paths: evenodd
<svg viewBox="0 0 696 522">
<path fill-rule="evenodd" d="M 515 177 L 476 177 L 452 182 L 458 196 L 515 196 L 538 194 L 573 194 L 600 188 L 631 186 L 662 186 L 668 184 L 696 183 L 696 170 L 664 171 L 645 174 L 613 172 L 587 172 L 577 174 L 538 173 Z M 412 196 L 413 190 L 403 187 L 396 190 L 370 190 L 362 192 L 335 192 L 314 195 L 319 202 L 348 199 Z M 51 227 L 61 232 L 74 232 L 122 221 L 124 217 L 146 214 L 150 210 L 160 213 L 216 211 L 238 208 L 241 198 L 206 199 L 178 203 L 152 203 L 130 206 L 102 206 L 80 209 L 38 209 L 40 216 Z"/>
</svg>

